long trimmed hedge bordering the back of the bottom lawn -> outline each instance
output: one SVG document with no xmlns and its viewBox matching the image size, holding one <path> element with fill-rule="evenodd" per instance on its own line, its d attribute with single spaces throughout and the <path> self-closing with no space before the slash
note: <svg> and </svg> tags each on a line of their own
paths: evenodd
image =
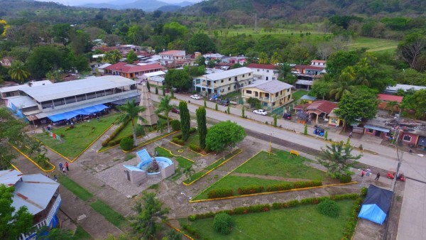
<svg viewBox="0 0 426 240">
<path fill-rule="evenodd" d="M 225 212 L 230 215 L 241 215 L 241 214 L 247 214 L 247 213 L 253 213 L 253 212 L 268 212 L 272 209 L 283 209 L 283 208 L 289 208 L 289 207 L 297 207 L 302 204 L 317 204 L 324 200 L 354 200 L 359 198 L 359 195 L 356 193 L 349 193 L 344 195 L 334 195 L 331 197 L 312 197 L 312 198 L 306 198 L 303 200 L 292 200 L 289 202 L 274 202 L 272 205 L 270 204 L 258 204 L 258 205 L 252 205 L 248 207 L 236 207 L 234 209 L 230 210 L 222 210 L 219 212 L 206 212 L 204 214 L 195 214 L 188 216 L 188 219 L 192 222 L 198 219 L 206 219 L 210 217 L 214 217 L 214 215 L 218 213 Z"/>
</svg>

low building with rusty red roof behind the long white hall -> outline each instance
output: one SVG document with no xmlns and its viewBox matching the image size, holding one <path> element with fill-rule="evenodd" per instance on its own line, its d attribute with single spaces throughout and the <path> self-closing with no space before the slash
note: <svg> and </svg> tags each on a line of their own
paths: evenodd
<svg viewBox="0 0 426 240">
<path fill-rule="evenodd" d="M 109 75 L 119 75 L 130 79 L 139 77 L 144 73 L 158 72 L 165 70 L 165 67 L 158 63 L 138 65 L 127 62 L 117 62 L 116 64 L 104 67 L 104 72 Z"/>
</svg>

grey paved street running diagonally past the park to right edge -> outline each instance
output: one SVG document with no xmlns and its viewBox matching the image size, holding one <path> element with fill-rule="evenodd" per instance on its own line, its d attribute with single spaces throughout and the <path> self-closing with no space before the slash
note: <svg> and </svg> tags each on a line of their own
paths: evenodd
<svg viewBox="0 0 426 240">
<path fill-rule="evenodd" d="M 161 95 L 151 94 L 151 97 L 153 101 L 158 102 Z M 190 100 L 191 103 L 188 104 L 188 109 L 191 112 L 195 112 L 199 106 L 203 106 L 204 104 L 202 99 L 190 99 L 190 97 L 183 94 L 175 94 L 175 97 L 177 97 L 177 100 L 173 101 L 175 104 L 178 104 L 179 100 Z M 231 114 L 225 114 L 224 111 L 227 107 L 218 106 L 219 111 L 214 111 L 214 105 L 214 102 L 207 101 L 207 107 L 210 108 L 207 109 L 208 118 L 217 119 L 219 121 L 236 121 L 239 125 L 251 131 L 257 131 L 264 134 L 272 133 L 276 138 L 282 138 L 316 150 L 320 150 L 321 147 L 325 146 L 325 142 L 322 138 L 303 135 L 302 124 L 278 119 L 278 126 L 283 126 L 283 129 L 274 128 L 270 125 L 261 124 L 266 121 L 271 124 L 271 122 L 273 122 L 273 118 L 270 116 L 260 116 L 246 111 L 245 114 L 248 119 L 242 119 L 240 117 L 241 109 L 231 107 Z M 294 129 L 294 131 L 286 129 Z M 312 133 L 312 129 L 308 129 L 308 131 Z M 332 138 L 334 141 L 346 141 L 347 138 L 347 136 L 333 131 L 329 131 L 328 134 L 329 138 Z M 396 168 L 398 160 L 394 148 L 382 146 L 374 143 L 373 141 L 368 141 L 368 138 L 364 139 L 364 137 L 361 139 L 352 138 L 351 143 L 354 146 L 362 144 L 365 150 L 377 153 L 372 154 L 364 152 L 362 153 L 363 156 L 359 162 L 372 165 L 383 170 Z M 359 152 L 354 151 L 354 153 Z M 401 207 L 397 239 L 426 239 L 426 184 L 424 183 L 426 182 L 426 157 L 405 153 L 403 154 L 403 163 L 400 170 L 402 170 L 408 178 L 413 180 L 407 180 L 405 184 L 405 195 L 403 197 L 403 205 Z M 382 173 L 382 176 L 385 174 L 386 173 Z M 415 212 L 415 214 L 413 214 L 413 212 Z"/>
</svg>

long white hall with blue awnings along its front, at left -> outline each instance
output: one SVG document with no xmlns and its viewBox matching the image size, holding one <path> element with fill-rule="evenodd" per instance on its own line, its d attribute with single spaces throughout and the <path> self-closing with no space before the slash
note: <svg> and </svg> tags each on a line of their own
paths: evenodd
<svg viewBox="0 0 426 240">
<path fill-rule="evenodd" d="M 22 85 L 21 85 L 22 86 Z M 7 92 L 9 88 L 0 89 Z M 76 116 L 95 114 L 111 105 L 138 99 L 136 82 L 126 77 L 110 75 L 87 77 L 82 80 L 42 84 L 18 88 L 13 97 L 5 97 L 6 106 L 17 116 L 45 124 L 66 121 Z"/>
</svg>

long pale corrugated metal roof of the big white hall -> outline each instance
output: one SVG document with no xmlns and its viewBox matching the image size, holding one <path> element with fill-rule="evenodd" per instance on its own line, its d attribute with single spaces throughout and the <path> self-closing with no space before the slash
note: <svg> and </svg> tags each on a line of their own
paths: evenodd
<svg viewBox="0 0 426 240">
<path fill-rule="evenodd" d="M 38 87 L 22 89 L 23 92 L 33 97 L 38 102 L 45 102 L 64 97 L 72 97 L 89 92 L 126 87 L 136 84 L 135 81 L 126 77 L 108 75 L 103 77 L 87 77 L 83 80 L 70 82 L 58 82 Z"/>
</svg>

